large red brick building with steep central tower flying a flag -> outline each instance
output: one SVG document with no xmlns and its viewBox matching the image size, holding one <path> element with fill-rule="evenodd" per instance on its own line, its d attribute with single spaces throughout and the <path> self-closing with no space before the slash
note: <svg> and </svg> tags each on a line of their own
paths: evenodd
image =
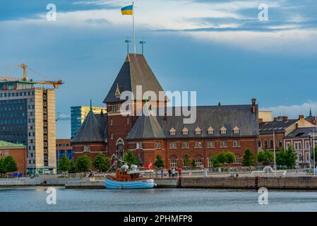
<svg viewBox="0 0 317 226">
<path fill-rule="evenodd" d="M 139 85 L 143 97 L 136 93 Z M 123 105 L 126 99 L 120 97 L 124 91 L 133 93 L 135 98 L 131 105 Z M 160 98 L 151 102 L 151 96 L 145 95 L 147 91 Z M 155 156 L 161 155 L 165 167 L 183 167 L 184 155 L 189 155 L 191 160 L 196 160 L 197 167 L 207 167 L 212 154 L 230 150 L 240 165 L 246 148 L 257 153 L 258 105 L 255 99 L 250 105 L 198 106 L 195 123 L 184 124 L 183 114 L 166 114 L 171 108 L 166 107 L 167 97 L 160 96 L 160 91 L 163 89 L 145 57 L 128 54 L 104 99 L 107 114 L 90 111 L 71 140 L 75 160 L 83 154 L 93 158 L 100 152 L 116 160 L 132 150 L 140 165 L 154 162 Z M 145 100 L 149 100 L 146 105 Z M 143 108 L 148 110 L 148 116 L 121 114 L 123 110 L 136 113 Z M 163 109 L 165 116 L 157 116 L 158 109 Z M 172 107 L 173 112 L 176 109 Z"/>
</svg>

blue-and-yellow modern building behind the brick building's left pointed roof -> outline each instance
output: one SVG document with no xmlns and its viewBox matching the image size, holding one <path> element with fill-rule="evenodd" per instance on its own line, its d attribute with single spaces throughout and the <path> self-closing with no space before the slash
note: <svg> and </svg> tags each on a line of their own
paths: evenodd
<svg viewBox="0 0 317 226">
<path fill-rule="evenodd" d="M 78 132 L 81 124 L 85 120 L 86 116 L 90 111 L 88 106 L 76 106 L 71 107 L 71 137 L 73 138 Z M 92 112 L 100 114 L 101 112 L 106 113 L 107 107 L 92 107 Z"/>
</svg>

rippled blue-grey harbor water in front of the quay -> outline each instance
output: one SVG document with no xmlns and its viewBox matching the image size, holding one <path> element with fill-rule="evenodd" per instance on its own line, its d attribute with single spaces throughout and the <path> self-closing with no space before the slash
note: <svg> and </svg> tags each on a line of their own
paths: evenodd
<svg viewBox="0 0 317 226">
<path fill-rule="evenodd" d="M 255 190 L 238 189 L 56 189 L 56 204 L 47 204 L 47 187 L 0 187 L 5 211 L 316 211 L 316 191 L 268 191 L 260 205 Z"/>
</svg>

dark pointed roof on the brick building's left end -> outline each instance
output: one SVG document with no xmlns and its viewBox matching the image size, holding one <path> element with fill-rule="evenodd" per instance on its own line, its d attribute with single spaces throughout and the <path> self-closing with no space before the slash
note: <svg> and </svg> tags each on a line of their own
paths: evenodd
<svg viewBox="0 0 317 226">
<path fill-rule="evenodd" d="M 105 142 L 106 139 L 107 114 L 94 114 L 90 110 L 71 143 Z"/>
</svg>

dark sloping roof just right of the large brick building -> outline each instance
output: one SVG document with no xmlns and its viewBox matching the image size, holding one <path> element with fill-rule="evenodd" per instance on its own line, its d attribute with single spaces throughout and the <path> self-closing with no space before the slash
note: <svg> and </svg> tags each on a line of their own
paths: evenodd
<svg viewBox="0 0 317 226">
<path fill-rule="evenodd" d="M 287 121 L 279 120 L 279 121 L 267 121 L 260 123 L 260 133 L 268 134 L 268 133 L 284 133 L 287 127 L 292 126 L 298 119 L 289 119 Z"/>
</svg>

